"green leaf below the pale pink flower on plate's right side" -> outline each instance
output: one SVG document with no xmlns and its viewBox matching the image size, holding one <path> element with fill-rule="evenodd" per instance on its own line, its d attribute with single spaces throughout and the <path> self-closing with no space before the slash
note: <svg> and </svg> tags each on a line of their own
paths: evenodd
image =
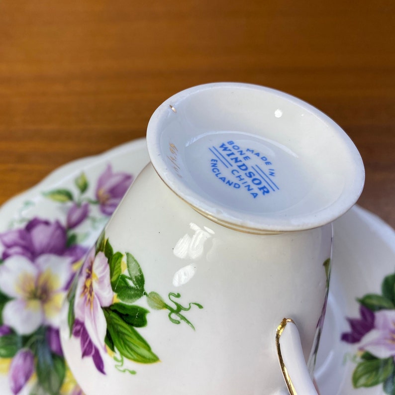
<svg viewBox="0 0 395 395">
<path fill-rule="evenodd" d="M 360 362 L 354 370 L 354 388 L 374 387 L 394 374 L 394 359 L 373 359 Z"/>
</svg>

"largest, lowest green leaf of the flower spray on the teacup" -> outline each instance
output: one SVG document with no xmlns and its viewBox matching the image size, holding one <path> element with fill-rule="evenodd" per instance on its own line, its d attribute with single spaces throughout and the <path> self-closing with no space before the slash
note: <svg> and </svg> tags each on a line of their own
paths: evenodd
<svg viewBox="0 0 395 395">
<path fill-rule="evenodd" d="M 143 364 L 159 361 L 146 340 L 132 326 L 123 321 L 115 311 L 110 309 L 103 309 L 103 311 L 107 321 L 107 330 L 121 355 Z"/>
</svg>

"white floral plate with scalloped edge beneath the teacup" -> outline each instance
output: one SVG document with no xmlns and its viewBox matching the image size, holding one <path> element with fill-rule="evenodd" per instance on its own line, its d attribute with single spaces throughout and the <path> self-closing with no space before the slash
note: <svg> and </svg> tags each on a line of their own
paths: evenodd
<svg viewBox="0 0 395 395">
<path fill-rule="evenodd" d="M 59 168 L 0 208 L 1 394 L 82 394 L 60 347 L 61 301 L 148 161 L 145 139 L 134 140 Z M 395 394 L 395 232 L 354 206 L 334 222 L 333 243 L 320 393 Z"/>
</svg>

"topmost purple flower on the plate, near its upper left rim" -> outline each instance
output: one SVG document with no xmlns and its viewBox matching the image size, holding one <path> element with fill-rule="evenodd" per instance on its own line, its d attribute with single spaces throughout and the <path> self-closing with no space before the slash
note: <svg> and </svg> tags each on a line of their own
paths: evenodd
<svg viewBox="0 0 395 395">
<path fill-rule="evenodd" d="M 133 177 L 127 173 L 113 173 L 108 165 L 101 174 L 96 188 L 96 198 L 99 200 L 100 211 L 105 215 L 111 215 L 123 195 L 132 184 Z"/>
</svg>

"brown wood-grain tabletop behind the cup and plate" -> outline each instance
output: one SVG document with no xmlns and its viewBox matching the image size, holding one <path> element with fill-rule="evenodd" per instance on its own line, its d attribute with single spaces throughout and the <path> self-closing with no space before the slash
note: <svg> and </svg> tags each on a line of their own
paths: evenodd
<svg viewBox="0 0 395 395">
<path fill-rule="evenodd" d="M 393 0 L 1 1 L 0 203 L 215 81 L 326 112 L 364 159 L 359 203 L 395 226 Z"/>
</svg>

